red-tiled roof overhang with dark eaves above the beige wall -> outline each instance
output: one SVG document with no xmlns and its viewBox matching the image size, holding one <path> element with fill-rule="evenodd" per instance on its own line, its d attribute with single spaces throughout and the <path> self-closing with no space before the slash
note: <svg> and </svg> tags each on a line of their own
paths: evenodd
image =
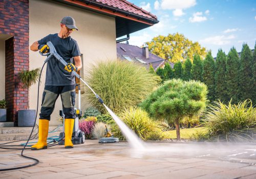
<svg viewBox="0 0 256 179">
<path fill-rule="evenodd" d="M 157 16 L 125 0 L 55 1 L 115 17 L 116 38 L 159 23 Z"/>
</svg>

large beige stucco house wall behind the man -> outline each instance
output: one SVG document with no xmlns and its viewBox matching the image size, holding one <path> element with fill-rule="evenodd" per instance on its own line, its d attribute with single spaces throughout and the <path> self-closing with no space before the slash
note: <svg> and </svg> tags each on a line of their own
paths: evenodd
<svg viewBox="0 0 256 179">
<path fill-rule="evenodd" d="M 86 71 L 90 68 L 91 63 L 106 59 L 116 59 L 116 31 L 114 17 L 52 1 L 29 1 L 29 44 L 31 45 L 34 41 L 37 41 L 48 34 L 58 33 L 60 30 L 60 20 L 64 16 L 72 16 L 76 20 L 78 31 L 74 31 L 71 37 L 78 42 L 80 52 L 83 54 L 82 74 L 86 75 Z M 30 51 L 29 55 L 30 70 L 41 68 L 45 57 L 42 57 L 38 52 L 33 51 Z M 44 69 L 41 78 L 39 105 L 41 104 L 41 96 L 45 84 L 45 72 L 46 68 Z M 30 87 L 29 95 L 30 109 L 35 109 L 37 84 Z M 76 105 L 78 105 L 77 99 Z M 82 109 L 88 106 L 84 101 L 81 105 Z M 50 125 L 60 124 L 60 122 L 57 121 L 57 118 L 59 110 L 61 109 L 61 100 L 59 97 L 51 116 Z"/>
</svg>

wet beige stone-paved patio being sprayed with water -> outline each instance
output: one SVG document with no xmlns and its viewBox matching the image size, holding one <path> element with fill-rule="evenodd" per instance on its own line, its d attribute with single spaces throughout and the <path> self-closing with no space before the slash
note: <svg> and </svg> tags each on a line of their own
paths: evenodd
<svg viewBox="0 0 256 179">
<path fill-rule="evenodd" d="M 3 142 L 0 142 L 3 143 Z M 20 142 L 16 143 L 20 144 Z M 256 144 L 148 142 L 145 150 L 127 142 L 85 144 L 65 149 L 26 150 L 40 161 L 29 168 L 2 171 L 0 178 L 256 178 Z M 0 149 L 0 168 L 31 164 L 19 150 Z"/>
</svg>

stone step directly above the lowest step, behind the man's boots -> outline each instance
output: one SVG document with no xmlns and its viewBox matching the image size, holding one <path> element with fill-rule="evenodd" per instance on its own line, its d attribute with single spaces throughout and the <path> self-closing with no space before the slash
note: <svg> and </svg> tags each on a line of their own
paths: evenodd
<svg viewBox="0 0 256 179">
<path fill-rule="evenodd" d="M 0 135 L 6 133 L 30 133 L 33 127 L 0 127 Z M 38 127 L 34 127 L 33 132 L 37 132 Z M 49 126 L 49 131 L 62 131 L 62 126 Z"/>
</svg>

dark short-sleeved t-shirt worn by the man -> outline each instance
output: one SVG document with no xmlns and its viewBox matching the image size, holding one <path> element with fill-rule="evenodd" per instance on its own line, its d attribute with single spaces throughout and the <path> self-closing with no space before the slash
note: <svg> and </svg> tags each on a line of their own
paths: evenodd
<svg viewBox="0 0 256 179">
<path fill-rule="evenodd" d="M 70 63 L 72 58 L 80 56 L 80 50 L 76 40 L 70 36 L 60 38 L 58 34 L 50 34 L 41 40 L 39 44 L 46 44 L 51 41 L 56 52 L 67 62 Z M 45 85 L 65 86 L 75 84 L 75 76 L 65 70 L 65 66 L 55 57 L 51 57 L 47 62 L 46 83 Z"/>
</svg>

